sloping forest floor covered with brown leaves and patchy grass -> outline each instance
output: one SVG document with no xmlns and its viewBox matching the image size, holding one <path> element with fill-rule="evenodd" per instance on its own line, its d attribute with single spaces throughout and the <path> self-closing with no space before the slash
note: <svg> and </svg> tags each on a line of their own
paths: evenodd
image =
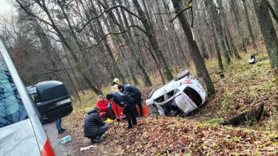
<svg viewBox="0 0 278 156">
<path fill-rule="evenodd" d="M 63 125 L 69 129 L 72 140 L 63 146 L 74 150 L 70 155 L 278 155 L 277 84 L 269 72 L 272 69 L 267 53 L 259 50 L 255 65 L 249 65 L 248 54 L 243 53 L 242 60 L 233 60 L 224 71 L 218 69 L 216 61 L 207 62 L 216 94 L 198 111 L 186 118 L 145 116 L 131 130 L 126 129 L 126 122 L 114 123 L 101 143 L 92 144 L 84 138 L 86 111 L 96 101 L 89 97 L 91 106 L 75 105 L 74 112 L 65 118 Z M 196 75 L 194 69 L 190 71 Z M 220 78 L 221 73 L 224 79 Z M 141 88 L 144 99 L 152 88 Z M 259 122 L 237 128 L 218 124 L 257 108 L 260 95 L 265 111 Z M 88 145 L 96 147 L 80 152 L 80 147 Z"/>
</svg>

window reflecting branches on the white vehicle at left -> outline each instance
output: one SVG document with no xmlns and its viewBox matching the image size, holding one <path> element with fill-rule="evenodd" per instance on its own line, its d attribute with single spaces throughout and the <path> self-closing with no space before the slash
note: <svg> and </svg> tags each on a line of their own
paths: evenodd
<svg viewBox="0 0 278 156">
<path fill-rule="evenodd" d="M 0 128 L 23 121 L 26 109 L 0 53 Z"/>
</svg>

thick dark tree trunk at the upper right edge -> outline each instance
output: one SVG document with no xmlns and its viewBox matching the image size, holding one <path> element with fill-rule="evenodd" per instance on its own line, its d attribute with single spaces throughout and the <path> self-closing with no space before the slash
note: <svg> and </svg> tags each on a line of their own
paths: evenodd
<svg viewBox="0 0 278 156">
<path fill-rule="evenodd" d="M 278 39 L 275 32 L 272 19 L 267 9 L 265 0 L 252 0 L 257 15 L 257 21 L 259 21 L 260 30 L 267 47 L 267 54 L 269 57 L 270 65 L 274 74 L 275 82 L 278 84 Z"/>
</svg>

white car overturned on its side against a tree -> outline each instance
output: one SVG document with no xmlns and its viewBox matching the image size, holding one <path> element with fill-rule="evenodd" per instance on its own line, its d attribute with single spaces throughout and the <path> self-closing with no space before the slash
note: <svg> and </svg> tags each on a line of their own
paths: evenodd
<svg viewBox="0 0 278 156">
<path fill-rule="evenodd" d="M 206 91 L 188 70 L 160 89 L 152 89 L 146 104 L 151 114 L 186 116 L 206 102 Z"/>
</svg>

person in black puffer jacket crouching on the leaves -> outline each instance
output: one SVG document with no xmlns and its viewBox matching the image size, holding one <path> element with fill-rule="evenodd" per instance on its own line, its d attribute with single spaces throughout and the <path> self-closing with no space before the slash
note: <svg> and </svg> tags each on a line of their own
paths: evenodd
<svg viewBox="0 0 278 156">
<path fill-rule="evenodd" d="M 101 120 L 98 106 L 88 111 L 87 114 L 84 121 L 84 136 L 90 138 L 92 142 L 102 141 L 101 135 L 108 130 L 109 124 Z"/>
</svg>

